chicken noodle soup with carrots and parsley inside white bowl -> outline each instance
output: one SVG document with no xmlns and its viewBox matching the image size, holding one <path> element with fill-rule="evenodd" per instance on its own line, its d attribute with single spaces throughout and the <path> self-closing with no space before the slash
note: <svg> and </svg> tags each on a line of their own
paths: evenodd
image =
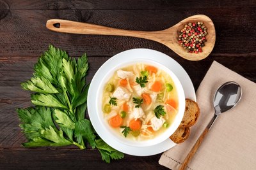
<svg viewBox="0 0 256 170">
<path fill-rule="evenodd" d="M 102 111 L 107 124 L 117 135 L 137 141 L 163 133 L 179 109 L 171 76 L 148 64 L 116 70 L 103 93 Z"/>
</svg>

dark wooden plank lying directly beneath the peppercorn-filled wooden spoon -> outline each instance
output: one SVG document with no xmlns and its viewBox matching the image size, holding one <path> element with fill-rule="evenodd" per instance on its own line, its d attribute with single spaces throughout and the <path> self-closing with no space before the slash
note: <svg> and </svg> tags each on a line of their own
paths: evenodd
<svg viewBox="0 0 256 170">
<path fill-rule="evenodd" d="M 181 9 L 182 10 L 182 9 Z M 183 9 L 184 10 L 184 9 Z M 0 11 L 0 13 L 3 10 Z M 151 48 L 178 55 L 160 43 L 122 36 L 77 35 L 52 32 L 45 28 L 51 18 L 105 25 L 118 29 L 159 31 L 180 20 L 205 13 L 214 22 L 216 45 L 211 55 L 255 55 L 256 11 L 254 8 L 195 8 L 180 13 L 174 10 L 11 10 L 0 20 L 0 56 L 38 56 L 52 43 L 68 49 L 71 55 L 112 56 L 131 48 Z M 3 24 L 4 23 L 4 24 Z M 15 45 L 15 46 L 13 46 Z"/>
</svg>

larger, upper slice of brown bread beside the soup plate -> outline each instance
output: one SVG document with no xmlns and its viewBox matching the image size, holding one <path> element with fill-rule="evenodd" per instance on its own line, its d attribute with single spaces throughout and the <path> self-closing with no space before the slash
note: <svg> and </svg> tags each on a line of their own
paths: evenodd
<svg viewBox="0 0 256 170">
<path fill-rule="evenodd" d="M 191 99 L 186 99 L 185 113 L 179 127 L 191 127 L 196 123 L 200 114 L 198 104 Z"/>
</svg>

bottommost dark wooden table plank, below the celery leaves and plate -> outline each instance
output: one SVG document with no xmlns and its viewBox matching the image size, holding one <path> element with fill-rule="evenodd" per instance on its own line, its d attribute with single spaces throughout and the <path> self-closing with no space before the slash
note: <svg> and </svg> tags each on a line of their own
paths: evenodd
<svg viewBox="0 0 256 170">
<path fill-rule="evenodd" d="M 110 164 L 97 150 L 36 148 L 0 150 L 0 169 L 167 169 L 157 163 L 161 154 L 150 157 L 125 155 Z"/>
</svg>

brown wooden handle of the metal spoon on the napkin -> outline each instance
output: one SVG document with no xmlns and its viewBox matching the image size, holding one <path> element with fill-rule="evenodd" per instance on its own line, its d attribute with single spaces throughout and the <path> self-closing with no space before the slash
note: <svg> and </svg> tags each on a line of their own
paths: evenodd
<svg viewBox="0 0 256 170">
<path fill-rule="evenodd" d="M 201 145 L 205 135 L 207 134 L 207 132 L 209 131 L 209 129 L 205 129 L 204 132 L 200 135 L 200 137 L 197 139 L 195 145 L 193 146 L 193 148 L 191 148 L 190 152 L 188 153 L 186 159 L 184 160 L 182 166 L 180 167 L 180 170 L 184 170 L 187 166 L 189 161 L 192 159 L 192 157 L 195 155 L 196 150 L 199 148 L 199 146 Z"/>
</svg>

